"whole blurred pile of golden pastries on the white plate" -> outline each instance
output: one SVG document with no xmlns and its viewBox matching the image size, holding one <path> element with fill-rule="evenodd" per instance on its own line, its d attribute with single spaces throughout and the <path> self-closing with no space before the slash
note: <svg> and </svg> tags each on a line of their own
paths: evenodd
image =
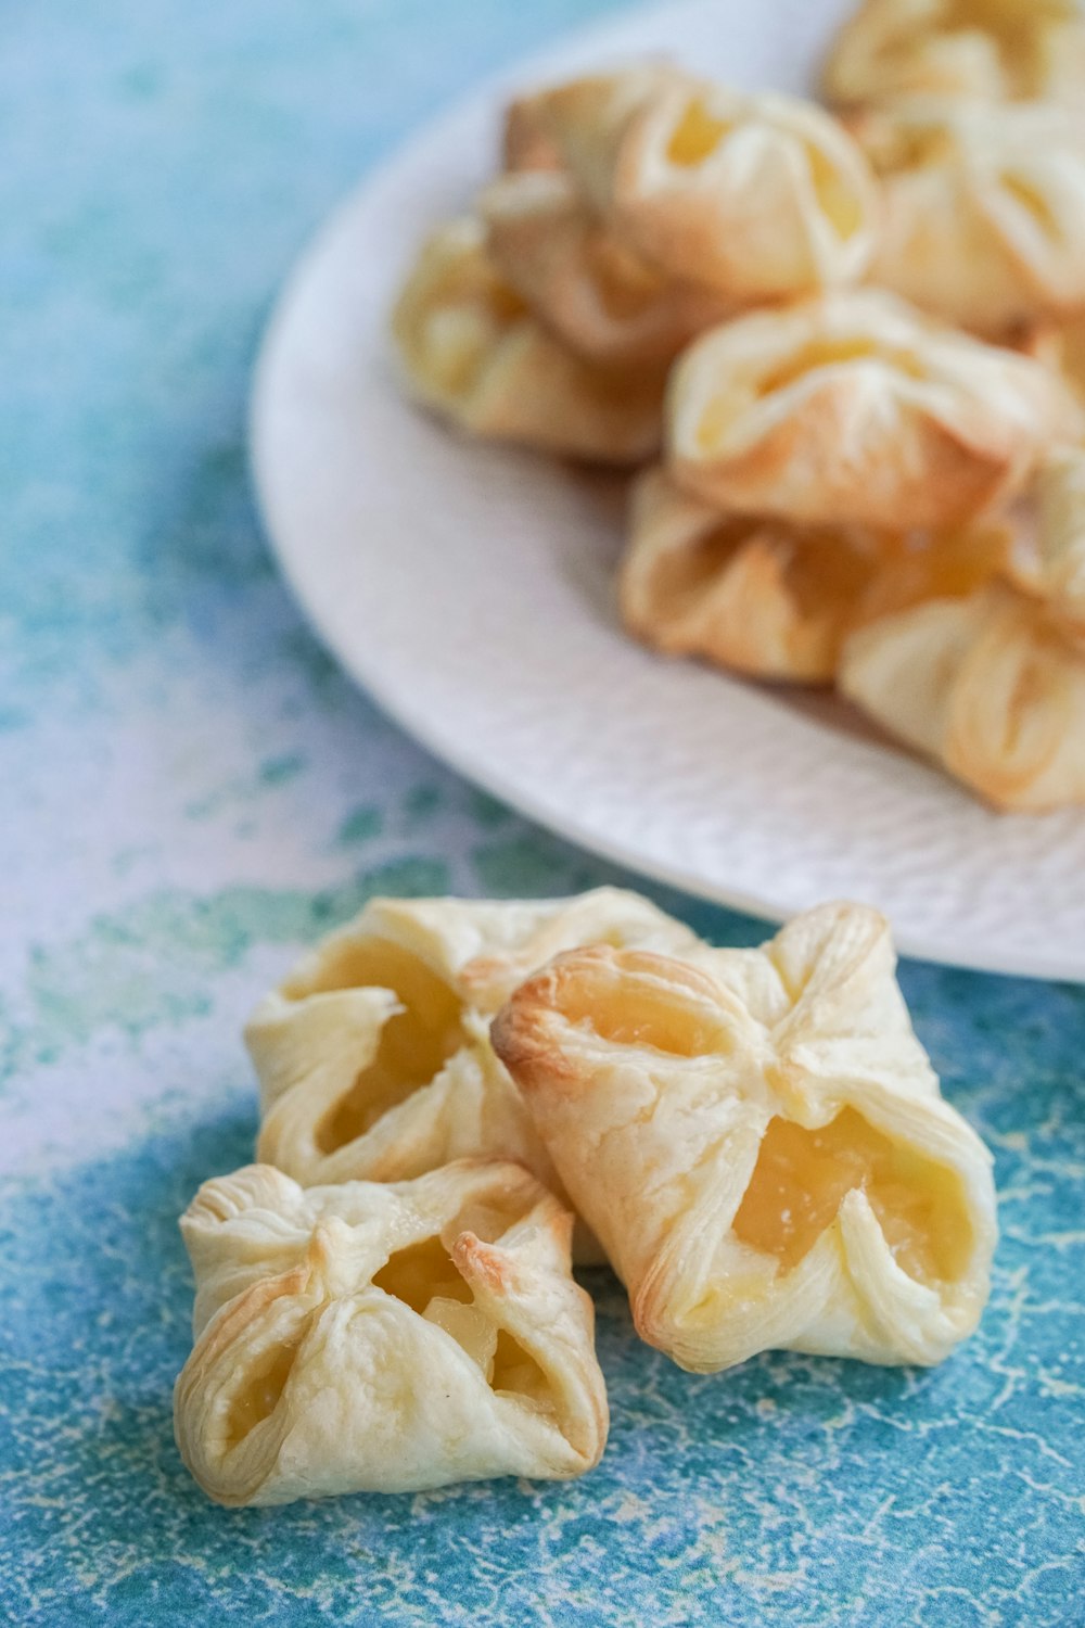
<svg viewBox="0 0 1085 1628">
<path fill-rule="evenodd" d="M 638 638 L 1085 804 L 1083 93 L 1075 0 L 865 0 L 831 111 L 667 62 L 524 94 L 400 293 L 408 389 L 639 470 Z"/>
</svg>

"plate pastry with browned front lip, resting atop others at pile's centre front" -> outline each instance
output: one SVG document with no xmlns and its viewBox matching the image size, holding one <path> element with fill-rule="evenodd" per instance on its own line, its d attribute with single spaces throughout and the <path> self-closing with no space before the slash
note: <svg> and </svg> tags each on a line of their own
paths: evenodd
<svg viewBox="0 0 1085 1628">
<path fill-rule="evenodd" d="M 675 479 L 815 526 L 955 526 L 1009 497 L 1077 422 L 1041 363 L 878 290 L 737 317 L 672 374 Z"/>
</svg>

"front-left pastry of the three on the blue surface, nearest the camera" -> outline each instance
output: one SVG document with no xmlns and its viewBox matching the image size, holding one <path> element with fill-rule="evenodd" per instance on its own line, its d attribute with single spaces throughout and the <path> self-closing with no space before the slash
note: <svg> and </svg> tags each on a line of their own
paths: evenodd
<svg viewBox="0 0 1085 1628">
<path fill-rule="evenodd" d="M 566 1478 L 607 1441 L 571 1214 L 516 1164 L 307 1192 L 252 1164 L 181 1221 L 177 1446 L 221 1504 Z"/>
</svg>

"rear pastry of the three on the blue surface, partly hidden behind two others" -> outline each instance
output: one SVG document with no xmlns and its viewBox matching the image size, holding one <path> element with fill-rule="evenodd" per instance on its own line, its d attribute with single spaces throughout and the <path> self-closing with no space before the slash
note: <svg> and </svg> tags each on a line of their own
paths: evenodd
<svg viewBox="0 0 1085 1628">
<path fill-rule="evenodd" d="M 636 894 L 374 899 L 267 995 L 246 1027 L 257 1158 L 304 1184 L 420 1175 L 449 1159 L 553 1166 L 490 1045 L 517 983 L 576 944 L 685 954 L 690 928 Z M 599 1260 L 577 1236 L 577 1258 Z"/>
</svg>

